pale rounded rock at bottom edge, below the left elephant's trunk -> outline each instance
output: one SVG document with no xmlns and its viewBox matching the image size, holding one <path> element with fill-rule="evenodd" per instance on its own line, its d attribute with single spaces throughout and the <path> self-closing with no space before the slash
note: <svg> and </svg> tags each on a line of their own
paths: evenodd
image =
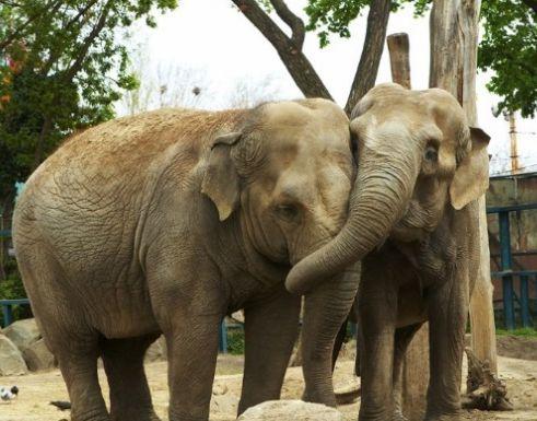
<svg viewBox="0 0 537 421">
<path fill-rule="evenodd" d="M 246 410 L 237 421 L 343 421 L 334 408 L 302 400 L 269 400 Z"/>
</svg>

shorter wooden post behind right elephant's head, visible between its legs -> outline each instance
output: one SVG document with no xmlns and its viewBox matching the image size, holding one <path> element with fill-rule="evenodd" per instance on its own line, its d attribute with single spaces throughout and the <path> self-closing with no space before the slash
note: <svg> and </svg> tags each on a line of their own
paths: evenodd
<svg viewBox="0 0 537 421">
<path fill-rule="evenodd" d="M 411 89 L 408 34 L 389 35 L 387 44 L 392 65 L 392 80 Z M 402 412 L 410 420 L 423 418 L 428 384 L 429 325 L 424 324 L 410 342 L 402 364 Z"/>
</svg>

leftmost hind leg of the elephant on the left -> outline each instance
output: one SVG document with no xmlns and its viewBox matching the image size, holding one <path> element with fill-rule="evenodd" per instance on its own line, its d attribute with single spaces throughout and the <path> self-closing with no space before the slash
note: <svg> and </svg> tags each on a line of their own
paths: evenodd
<svg viewBox="0 0 537 421">
<path fill-rule="evenodd" d="M 97 377 L 98 332 L 73 300 L 73 284 L 46 247 L 24 249 L 20 268 L 47 347 L 69 391 L 72 421 L 110 421 Z"/>
</svg>

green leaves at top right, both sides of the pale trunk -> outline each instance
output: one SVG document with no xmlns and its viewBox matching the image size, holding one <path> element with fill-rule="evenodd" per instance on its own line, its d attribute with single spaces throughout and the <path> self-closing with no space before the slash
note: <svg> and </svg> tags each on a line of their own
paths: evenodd
<svg viewBox="0 0 537 421">
<path fill-rule="evenodd" d="M 308 0 L 306 28 L 316 32 L 320 47 L 326 47 L 330 34 L 350 37 L 350 23 L 370 3 L 371 0 Z M 413 4 L 416 15 L 423 15 L 431 0 L 393 0 L 393 11 L 405 3 Z M 487 86 L 502 97 L 499 108 L 520 110 L 523 117 L 533 117 L 537 109 L 536 14 L 535 0 L 487 0 L 481 5 L 485 31 L 478 67 L 493 71 Z"/>
</svg>

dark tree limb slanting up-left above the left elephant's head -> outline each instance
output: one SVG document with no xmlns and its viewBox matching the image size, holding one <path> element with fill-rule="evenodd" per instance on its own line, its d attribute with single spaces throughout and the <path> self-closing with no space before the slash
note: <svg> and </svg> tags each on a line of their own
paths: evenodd
<svg viewBox="0 0 537 421">
<path fill-rule="evenodd" d="M 318 77 L 312 63 L 297 48 L 295 42 L 289 38 L 283 31 L 257 4 L 256 0 L 232 0 L 241 12 L 276 48 L 291 78 L 306 97 L 324 97 L 331 100 L 330 93 Z M 277 0 L 277 3 L 283 3 Z M 284 3 L 283 3 L 284 4 Z M 280 4 L 281 5 L 281 4 Z M 287 7 L 285 7 L 287 8 Z M 276 9 L 276 5 L 275 5 Z M 281 9 L 284 13 L 284 10 Z M 299 39 L 300 40 L 300 37 Z"/>
</svg>

